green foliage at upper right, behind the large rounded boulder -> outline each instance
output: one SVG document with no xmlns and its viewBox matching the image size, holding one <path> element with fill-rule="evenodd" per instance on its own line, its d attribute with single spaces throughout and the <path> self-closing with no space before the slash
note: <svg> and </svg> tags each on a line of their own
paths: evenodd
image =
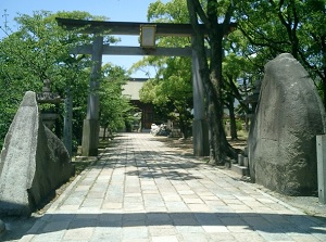
<svg viewBox="0 0 326 242">
<path fill-rule="evenodd" d="M 262 79 L 264 65 L 289 52 L 310 73 L 324 97 L 325 0 L 234 1 L 234 7 L 238 28 L 224 40 L 223 76 L 227 92 L 230 93 L 227 84 L 234 81 L 241 92 L 231 92 L 241 103 L 241 98 L 250 94 L 254 84 Z"/>
</svg>

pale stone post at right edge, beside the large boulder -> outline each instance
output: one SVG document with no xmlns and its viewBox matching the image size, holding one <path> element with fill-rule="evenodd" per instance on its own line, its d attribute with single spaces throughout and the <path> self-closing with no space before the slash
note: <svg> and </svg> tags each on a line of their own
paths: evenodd
<svg viewBox="0 0 326 242">
<path fill-rule="evenodd" d="M 316 136 L 319 202 L 326 204 L 326 135 Z"/>
</svg>

